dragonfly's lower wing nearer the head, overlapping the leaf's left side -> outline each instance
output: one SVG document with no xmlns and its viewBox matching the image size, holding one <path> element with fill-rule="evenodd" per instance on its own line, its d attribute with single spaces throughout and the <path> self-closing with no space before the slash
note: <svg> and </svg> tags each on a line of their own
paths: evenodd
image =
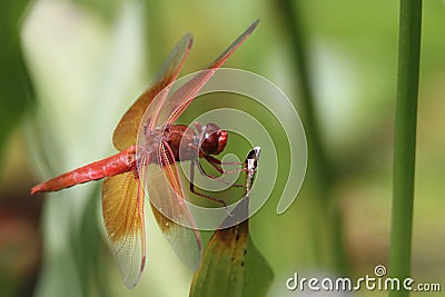
<svg viewBox="0 0 445 297">
<path fill-rule="evenodd" d="M 141 180 L 164 236 L 178 257 L 196 270 L 201 259 L 201 239 L 185 200 L 175 158 L 166 142 L 155 155 L 162 166 L 138 166 L 139 176 L 148 177 Z"/>
</svg>

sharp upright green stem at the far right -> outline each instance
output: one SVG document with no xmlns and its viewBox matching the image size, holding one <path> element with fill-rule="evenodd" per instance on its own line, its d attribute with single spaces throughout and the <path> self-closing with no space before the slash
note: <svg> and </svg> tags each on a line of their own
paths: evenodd
<svg viewBox="0 0 445 297">
<path fill-rule="evenodd" d="M 400 280 L 409 277 L 411 267 L 421 28 L 422 0 L 402 0 L 389 258 L 390 274 Z M 389 296 L 408 296 L 408 291 Z"/>
</svg>

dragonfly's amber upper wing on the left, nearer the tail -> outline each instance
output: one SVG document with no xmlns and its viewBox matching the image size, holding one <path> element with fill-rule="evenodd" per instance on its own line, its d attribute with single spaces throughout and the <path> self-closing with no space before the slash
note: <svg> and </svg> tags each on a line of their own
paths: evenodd
<svg viewBox="0 0 445 297">
<path fill-rule="evenodd" d="M 170 52 L 162 65 L 161 70 L 155 78 L 151 86 L 136 100 L 127 110 L 112 136 L 112 143 L 118 150 L 127 149 L 136 143 L 140 120 L 152 99 L 177 78 L 188 52 L 190 51 L 194 38 L 186 34 Z"/>
</svg>

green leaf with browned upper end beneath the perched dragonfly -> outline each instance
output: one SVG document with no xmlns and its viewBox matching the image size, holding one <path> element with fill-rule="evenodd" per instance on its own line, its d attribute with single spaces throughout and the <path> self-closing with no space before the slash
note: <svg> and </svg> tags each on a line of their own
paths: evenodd
<svg viewBox="0 0 445 297">
<path fill-rule="evenodd" d="M 227 220 L 248 210 L 246 197 Z M 245 216 L 244 216 L 245 217 Z M 274 278 L 270 266 L 255 246 L 248 219 L 215 231 L 191 283 L 190 296 L 265 296 Z"/>
</svg>

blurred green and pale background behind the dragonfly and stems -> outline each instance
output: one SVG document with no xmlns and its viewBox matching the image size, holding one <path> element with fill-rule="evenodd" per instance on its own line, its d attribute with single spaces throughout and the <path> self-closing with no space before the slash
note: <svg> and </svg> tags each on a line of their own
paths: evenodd
<svg viewBox="0 0 445 297">
<path fill-rule="evenodd" d="M 358 278 L 374 276 L 377 265 L 388 267 L 398 1 L 286 3 L 2 3 L 1 296 L 187 296 L 192 274 L 150 214 L 147 267 L 129 291 L 107 246 L 100 182 L 44 197 L 31 197 L 29 190 L 115 152 L 117 122 L 185 32 L 194 33 L 195 44 L 182 75 L 202 69 L 256 19 L 259 27 L 226 66 L 259 73 L 281 88 L 309 140 L 306 179 L 291 208 L 275 212 L 286 177 L 283 152 L 278 186 L 251 218 L 251 236 L 275 273 L 269 295 L 304 295 L 286 289 L 294 273 Z M 309 85 L 301 85 L 295 28 L 303 32 L 297 46 L 306 53 Z M 425 1 L 412 276 L 445 289 L 443 28 L 445 2 Z M 305 86 L 313 93 L 314 115 L 304 100 Z M 200 108 L 191 106 L 190 112 Z M 284 140 L 277 141 L 285 149 Z"/>
</svg>

